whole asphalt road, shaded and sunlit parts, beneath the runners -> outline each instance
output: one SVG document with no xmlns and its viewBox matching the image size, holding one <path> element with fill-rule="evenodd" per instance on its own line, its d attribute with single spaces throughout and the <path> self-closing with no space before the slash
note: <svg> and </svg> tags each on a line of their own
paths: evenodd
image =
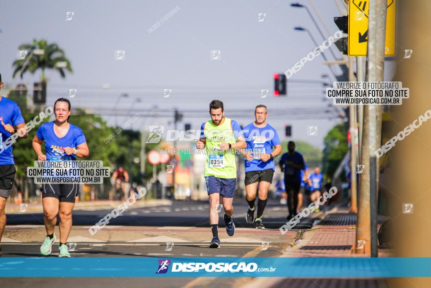
<svg viewBox="0 0 431 288">
<path fill-rule="evenodd" d="M 286 222 L 287 208 L 270 200 L 263 223 L 265 230 L 256 230 L 245 222 L 247 204 L 244 199 L 234 201 L 235 236 L 224 231 L 223 212 L 220 216 L 219 237 L 221 248 L 209 249 L 212 238 L 208 222 L 208 204 L 196 201 L 175 201 L 171 206 L 130 208 L 95 235 L 89 228 L 112 209 L 80 210 L 73 212 L 73 227 L 69 237 L 72 257 L 280 257 L 294 243 L 296 231 L 281 235 L 279 227 Z M 302 221 L 296 229 L 310 229 L 318 213 Z M 56 227 L 58 236 L 58 226 Z M 4 257 L 40 257 L 39 247 L 46 236 L 42 213 L 7 215 L 7 226 L 2 240 Z M 58 242 L 58 240 L 57 240 Z M 173 244 L 168 244 L 173 243 Z M 53 245 L 57 257 L 58 246 Z M 67 260 L 66 260 L 67 261 Z M 268 279 L 264 284 L 257 278 L 0 278 L 0 287 L 336 287 L 334 282 L 322 279 L 296 279 L 294 282 Z M 279 279 L 280 280 L 280 279 Z M 356 285 L 356 280 L 344 280 L 344 285 Z M 365 280 L 358 280 L 366 283 Z M 358 282 L 357 281 L 357 282 Z M 365 282 L 364 282 L 365 281 Z M 373 282 L 374 281 L 374 282 Z M 287 285 L 292 283 L 294 285 Z M 374 286 L 370 280 L 368 288 Z M 382 280 L 376 282 L 384 287 Z M 383 284 L 382 284 L 383 283 Z M 257 286 L 256 286 L 257 285 Z M 329 286 L 327 286 L 329 285 Z M 337 285 L 338 286 L 338 285 Z"/>
</svg>

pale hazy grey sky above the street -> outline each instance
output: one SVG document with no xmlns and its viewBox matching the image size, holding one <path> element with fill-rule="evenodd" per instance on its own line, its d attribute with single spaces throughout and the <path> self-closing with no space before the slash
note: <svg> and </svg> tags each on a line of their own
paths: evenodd
<svg viewBox="0 0 431 288">
<path fill-rule="evenodd" d="M 315 47 L 306 32 L 293 27 L 308 28 L 317 43 L 323 42 L 307 11 L 290 7 L 292 2 L 297 1 L 9 1 L 0 10 L 0 73 L 5 84 L 32 86 L 40 72 L 12 79 L 11 64 L 20 44 L 46 39 L 66 52 L 73 68 L 66 79 L 54 71 L 47 73 L 48 104 L 75 88 L 78 93 L 71 99 L 72 108 L 94 108 L 112 125 L 137 112 L 145 115 L 157 105 L 159 117 L 142 117 L 134 123 L 135 129 L 171 127 L 174 108 L 189 111 L 180 128 L 191 123 L 199 129 L 209 118 L 213 99 L 224 102 L 225 116 L 247 125 L 254 120 L 254 107 L 264 104 L 268 123 L 282 138 L 288 124 L 294 139 L 323 147 L 323 136 L 339 121 L 336 113 L 328 107 L 321 84 L 294 82 L 322 80 L 322 74 L 332 77 L 322 56 L 306 63 L 288 81 L 287 97 L 272 94 L 273 73 L 286 71 Z M 309 1 L 299 2 L 309 6 L 320 24 Z M 314 3 L 335 33 L 333 17 L 341 15 L 335 1 Z M 179 10 L 148 32 L 175 7 Z M 67 12 L 74 12 L 71 21 L 65 21 Z M 263 22 L 258 22 L 258 13 L 266 13 Z M 332 49 L 339 57 L 338 50 Z M 125 51 L 124 60 L 115 60 L 116 50 Z M 220 60 L 210 59 L 212 50 L 220 51 Z M 325 54 L 334 59 L 331 53 Z M 335 71 L 340 73 L 339 68 Z M 104 84 L 109 89 L 101 89 Z M 170 97 L 163 98 L 163 89 L 172 89 Z M 261 89 L 270 90 L 266 98 L 260 98 Z M 117 104 L 121 94 L 128 97 Z M 328 109 L 331 112 L 321 119 L 319 115 Z M 318 135 L 307 136 L 307 126 L 318 126 Z"/>
</svg>

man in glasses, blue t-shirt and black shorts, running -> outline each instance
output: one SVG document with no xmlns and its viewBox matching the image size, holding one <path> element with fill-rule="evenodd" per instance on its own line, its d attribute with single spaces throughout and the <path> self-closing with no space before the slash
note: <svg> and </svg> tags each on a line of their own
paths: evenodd
<svg viewBox="0 0 431 288">
<path fill-rule="evenodd" d="M 243 128 L 244 137 L 247 142 L 245 157 L 245 190 L 248 210 L 245 216 L 247 223 L 254 221 L 254 205 L 256 190 L 259 185 L 259 200 L 256 214 L 256 229 L 265 229 L 262 224 L 263 210 L 265 209 L 268 188 L 272 183 L 275 171 L 274 157 L 281 153 L 281 144 L 277 131 L 268 123 L 266 117 L 268 112 L 265 105 L 257 105 L 254 111 L 255 121 Z M 274 148 L 274 149 L 273 149 Z M 252 153 L 247 153 L 252 151 Z"/>
</svg>

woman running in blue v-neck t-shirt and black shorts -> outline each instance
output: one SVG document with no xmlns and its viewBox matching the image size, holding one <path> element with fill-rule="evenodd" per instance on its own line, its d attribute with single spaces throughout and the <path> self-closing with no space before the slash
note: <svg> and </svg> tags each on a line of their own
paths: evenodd
<svg viewBox="0 0 431 288">
<path fill-rule="evenodd" d="M 33 138 L 33 149 L 39 161 L 67 161 L 84 158 L 90 153 L 84 133 L 79 127 L 69 123 L 71 103 L 60 98 L 54 104 L 55 121 L 44 123 Z M 45 141 L 45 153 L 42 153 L 42 142 Z M 60 246 L 58 257 L 70 257 L 67 239 L 72 229 L 72 209 L 75 197 L 78 196 L 79 183 L 44 183 L 42 185 L 42 204 L 47 237 L 40 251 L 42 255 L 52 252 L 52 244 L 57 214 L 60 216 Z"/>
</svg>

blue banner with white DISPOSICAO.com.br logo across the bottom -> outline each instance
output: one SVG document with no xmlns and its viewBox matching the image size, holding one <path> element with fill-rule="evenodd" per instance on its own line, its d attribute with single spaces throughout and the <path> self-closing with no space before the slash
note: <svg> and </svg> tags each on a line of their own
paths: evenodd
<svg viewBox="0 0 431 288">
<path fill-rule="evenodd" d="M 431 258 L 0 258 L 0 277 L 431 277 Z"/>
</svg>

